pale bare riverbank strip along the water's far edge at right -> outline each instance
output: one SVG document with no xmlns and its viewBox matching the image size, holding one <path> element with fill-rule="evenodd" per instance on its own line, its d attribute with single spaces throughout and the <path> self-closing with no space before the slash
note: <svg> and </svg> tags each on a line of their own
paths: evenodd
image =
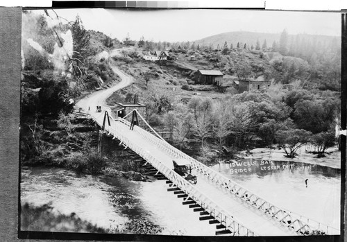
<svg viewBox="0 0 347 242">
<path fill-rule="evenodd" d="M 255 148 L 250 150 L 250 155 L 247 157 L 283 162 L 301 162 L 316 164 L 319 166 L 328 166 L 331 168 L 341 168 L 341 151 L 337 149 L 337 146 L 328 148 L 325 157 L 321 158 L 317 158 L 316 154 L 310 153 L 310 149 L 307 146 L 299 148 L 296 154 L 296 157 L 288 158 L 285 157 L 285 152 L 282 149 Z"/>
</svg>

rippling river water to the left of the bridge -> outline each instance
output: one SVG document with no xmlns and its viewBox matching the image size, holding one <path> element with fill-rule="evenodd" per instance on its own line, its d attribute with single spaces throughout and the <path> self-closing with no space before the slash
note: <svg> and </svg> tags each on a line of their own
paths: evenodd
<svg viewBox="0 0 347 242">
<path fill-rule="evenodd" d="M 135 182 L 125 178 L 78 175 L 63 168 L 22 169 L 21 202 L 49 204 L 61 214 L 105 229 L 144 218 L 163 227 L 161 234 L 213 235 L 215 225 L 199 221 L 199 213 L 182 205 L 164 180 Z"/>
</svg>

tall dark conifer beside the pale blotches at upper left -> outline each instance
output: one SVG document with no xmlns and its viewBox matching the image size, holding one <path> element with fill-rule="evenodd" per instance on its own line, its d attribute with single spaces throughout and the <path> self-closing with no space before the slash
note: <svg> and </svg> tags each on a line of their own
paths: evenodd
<svg viewBox="0 0 347 242">
<path fill-rule="evenodd" d="M 77 15 L 76 20 L 71 25 L 72 39 L 74 43 L 73 58 L 81 62 L 87 57 L 90 46 L 90 35 L 83 27 L 81 18 Z M 79 62 L 77 61 L 77 65 Z"/>
</svg>

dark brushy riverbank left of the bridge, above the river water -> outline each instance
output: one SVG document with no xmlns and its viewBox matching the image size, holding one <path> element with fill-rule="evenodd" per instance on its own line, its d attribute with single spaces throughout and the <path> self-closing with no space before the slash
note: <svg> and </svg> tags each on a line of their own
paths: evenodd
<svg viewBox="0 0 347 242">
<path fill-rule="evenodd" d="M 141 174 L 139 162 L 131 160 L 122 149 L 98 153 L 98 137 L 99 128 L 94 121 L 76 114 L 60 113 L 58 119 L 36 118 L 33 125 L 22 125 L 22 167 L 55 166 L 77 173 L 151 181 Z"/>
</svg>

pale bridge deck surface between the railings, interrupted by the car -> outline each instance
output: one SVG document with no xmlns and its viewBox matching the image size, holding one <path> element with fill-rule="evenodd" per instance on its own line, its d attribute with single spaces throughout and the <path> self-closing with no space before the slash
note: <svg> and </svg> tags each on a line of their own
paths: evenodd
<svg viewBox="0 0 347 242">
<path fill-rule="evenodd" d="M 99 119 L 98 119 L 99 123 Z M 167 167 L 173 168 L 172 157 L 170 154 L 165 153 L 164 150 L 160 150 L 154 144 L 151 144 L 144 137 L 139 135 L 137 132 L 130 130 L 128 126 L 123 123 L 115 122 L 117 132 L 121 132 L 132 142 L 137 144 L 137 146 L 142 147 L 146 152 L 155 156 L 162 164 Z M 113 125 L 113 123 L 112 123 Z M 198 176 L 198 183 L 196 184 L 196 189 L 201 191 L 201 193 L 208 194 L 210 198 L 214 201 L 218 201 L 218 205 L 223 207 L 232 216 L 234 216 L 237 221 L 246 225 L 248 229 L 252 230 L 256 234 L 266 235 L 266 236 L 288 236 L 297 235 L 287 227 L 280 225 L 278 221 L 273 220 L 271 217 L 266 216 L 255 207 L 247 204 L 240 198 L 228 191 L 223 191 L 220 187 L 216 186 L 214 183 L 210 182 L 205 176 L 196 174 Z"/>
</svg>

